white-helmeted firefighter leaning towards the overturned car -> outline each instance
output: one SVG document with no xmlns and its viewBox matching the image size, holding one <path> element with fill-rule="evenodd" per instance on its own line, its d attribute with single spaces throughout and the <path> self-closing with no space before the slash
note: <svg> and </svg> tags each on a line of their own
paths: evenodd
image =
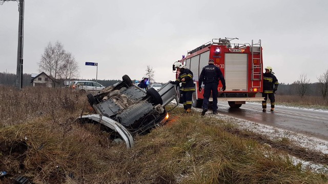
<svg viewBox="0 0 328 184">
<path fill-rule="evenodd" d="M 195 91 L 193 73 L 180 62 L 174 63 L 174 67 L 176 68 L 177 72 L 180 72 L 180 75 L 175 81 L 170 81 L 170 83 L 176 85 L 178 85 L 180 82 L 182 83 L 181 91 L 183 108 L 187 113 L 189 113 L 191 112 L 192 95 Z"/>
</svg>

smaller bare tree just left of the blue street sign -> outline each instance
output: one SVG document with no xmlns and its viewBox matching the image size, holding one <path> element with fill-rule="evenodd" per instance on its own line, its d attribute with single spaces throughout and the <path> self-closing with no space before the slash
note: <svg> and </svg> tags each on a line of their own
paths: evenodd
<svg viewBox="0 0 328 184">
<path fill-rule="evenodd" d="M 65 81 L 71 80 L 72 78 L 77 78 L 79 73 L 78 73 L 78 64 L 75 61 L 74 56 L 72 53 L 67 52 L 65 53 L 64 57 L 64 64 L 63 64 L 63 73 Z"/>
</svg>

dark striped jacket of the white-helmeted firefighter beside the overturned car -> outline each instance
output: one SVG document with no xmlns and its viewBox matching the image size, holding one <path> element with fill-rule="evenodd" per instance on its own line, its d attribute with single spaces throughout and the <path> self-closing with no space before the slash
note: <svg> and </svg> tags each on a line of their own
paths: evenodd
<svg viewBox="0 0 328 184">
<path fill-rule="evenodd" d="M 185 81 L 181 81 L 182 79 Z M 176 84 L 181 82 L 181 91 L 195 91 L 193 73 L 188 68 L 181 68 L 179 77 L 175 80 Z"/>
</svg>

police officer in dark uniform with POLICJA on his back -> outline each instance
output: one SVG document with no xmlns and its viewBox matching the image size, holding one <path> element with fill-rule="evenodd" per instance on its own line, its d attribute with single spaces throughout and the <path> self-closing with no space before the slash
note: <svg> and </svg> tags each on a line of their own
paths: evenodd
<svg viewBox="0 0 328 184">
<path fill-rule="evenodd" d="M 200 76 L 199 76 L 199 86 L 198 90 L 201 91 L 201 83 L 204 83 L 204 99 L 203 99 L 203 110 L 201 111 L 201 115 L 204 116 L 205 113 L 208 110 L 208 104 L 209 104 L 209 98 L 211 96 L 212 91 L 212 97 L 213 97 L 213 114 L 217 114 L 217 96 L 218 96 L 218 90 L 217 86 L 219 85 L 219 80 L 221 80 L 222 83 L 222 90 L 226 90 L 226 80 L 224 80 L 224 77 L 222 75 L 222 72 L 220 68 L 214 65 L 214 60 L 209 60 L 209 65 L 203 67 Z"/>
</svg>

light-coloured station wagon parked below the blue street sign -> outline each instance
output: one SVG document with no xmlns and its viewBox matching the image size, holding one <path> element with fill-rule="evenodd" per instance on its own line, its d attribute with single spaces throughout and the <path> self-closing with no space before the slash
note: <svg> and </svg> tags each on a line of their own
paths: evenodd
<svg viewBox="0 0 328 184">
<path fill-rule="evenodd" d="M 105 86 L 94 81 L 71 81 L 70 88 L 73 90 L 78 90 L 80 92 L 98 92 L 105 89 Z"/>
</svg>

